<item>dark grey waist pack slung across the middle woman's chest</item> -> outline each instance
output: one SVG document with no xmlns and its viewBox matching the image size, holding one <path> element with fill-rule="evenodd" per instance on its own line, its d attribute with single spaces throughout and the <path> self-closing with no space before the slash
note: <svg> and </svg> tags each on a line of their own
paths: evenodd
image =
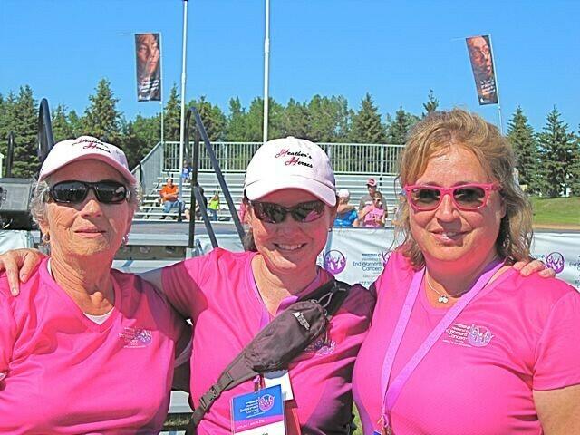
<svg viewBox="0 0 580 435">
<path fill-rule="evenodd" d="M 199 405 L 189 420 L 186 435 L 197 433 L 198 424 L 223 391 L 231 390 L 260 373 L 280 370 L 297 354 L 302 353 L 324 331 L 327 319 L 338 311 L 349 295 L 351 287 L 342 281 L 331 279 L 277 315 L 237 354 L 220 374 L 218 382 L 199 398 Z M 304 314 L 309 315 L 309 318 L 304 318 Z M 315 326 L 312 330 L 311 325 Z M 295 337 L 292 343 L 294 345 L 290 346 L 290 349 L 280 347 L 281 343 L 284 344 L 284 337 L 280 333 L 289 336 L 289 332 Z M 267 354 L 268 362 L 256 361 L 260 360 L 259 356 L 262 354 L 265 356 Z"/>
</svg>

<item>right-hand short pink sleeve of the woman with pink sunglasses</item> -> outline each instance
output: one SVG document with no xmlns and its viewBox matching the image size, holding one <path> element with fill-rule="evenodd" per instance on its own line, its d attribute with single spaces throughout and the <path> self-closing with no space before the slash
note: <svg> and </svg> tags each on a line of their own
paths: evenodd
<svg viewBox="0 0 580 435">
<path fill-rule="evenodd" d="M 534 390 L 580 384 L 580 293 L 568 292 L 554 304 L 536 346 Z"/>
</svg>

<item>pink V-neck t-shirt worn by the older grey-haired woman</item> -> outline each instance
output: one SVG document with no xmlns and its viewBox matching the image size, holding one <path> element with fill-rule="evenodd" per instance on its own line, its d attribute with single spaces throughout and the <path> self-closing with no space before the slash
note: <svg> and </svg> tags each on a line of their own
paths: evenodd
<svg viewBox="0 0 580 435">
<path fill-rule="evenodd" d="M 92 322 L 48 273 L 18 297 L 0 277 L 0 433 L 158 433 L 186 331 L 135 275 L 111 271 L 115 308 Z"/>
</svg>

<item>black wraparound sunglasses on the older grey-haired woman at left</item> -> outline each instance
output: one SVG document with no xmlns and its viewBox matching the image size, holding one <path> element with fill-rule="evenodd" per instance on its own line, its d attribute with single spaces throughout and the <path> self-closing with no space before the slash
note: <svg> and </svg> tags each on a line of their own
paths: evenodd
<svg viewBox="0 0 580 435">
<path fill-rule="evenodd" d="M 118 181 L 102 180 L 91 183 L 89 181 L 61 181 L 49 189 L 49 195 L 54 202 L 65 204 L 79 204 L 87 198 L 89 190 L 103 204 L 119 204 L 129 196 L 129 190 Z"/>
</svg>

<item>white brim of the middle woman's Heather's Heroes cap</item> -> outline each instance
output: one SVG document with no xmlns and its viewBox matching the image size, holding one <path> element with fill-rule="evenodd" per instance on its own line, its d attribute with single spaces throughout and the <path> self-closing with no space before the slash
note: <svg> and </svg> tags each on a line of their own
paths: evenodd
<svg viewBox="0 0 580 435">
<path fill-rule="evenodd" d="M 314 197 L 319 198 L 330 207 L 336 205 L 336 191 L 334 189 L 314 179 L 305 179 L 304 177 L 255 181 L 246 186 L 245 192 L 247 198 L 254 201 L 283 189 L 304 190 L 313 194 Z"/>
</svg>

